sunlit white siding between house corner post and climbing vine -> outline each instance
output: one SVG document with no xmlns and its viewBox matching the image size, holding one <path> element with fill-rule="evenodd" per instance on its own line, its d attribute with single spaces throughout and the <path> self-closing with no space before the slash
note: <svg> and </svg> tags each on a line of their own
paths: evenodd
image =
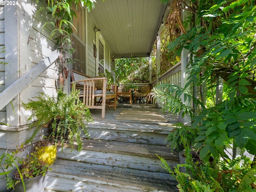
<svg viewBox="0 0 256 192">
<path fill-rule="evenodd" d="M 31 65 L 28 68 L 32 68 L 42 59 L 48 57 L 52 51 L 55 50 L 55 42 L 49 39 L 50 33 L 53 28 L 51 25 L 47 25 L 42 30 L 42 26 L 49 21 L 46 10 L 38 10 L 45 6 L 44 1 L 39 1 L 36 3 L 35 0 L 31 2 L 32 16 L 31 16 L 31 29 L 30 29 L 30 62 Z M 56 38 L 57 36 L 53 37 Z M 20 63 L 24 65 L 25 63 Z M 26 67 L 26 66 L 24 66 Z M 26 71 L 28 71 L 26 70 Z M 28 102 L 28 99 L 33 99 L 38 95 L 38 92 L 44 92 L 50 96 L 56 95 L 56 86 L 59 87 L 59 74 L 60 66 L 56 62 L 48 68 L 46 71 L 42 72 L 38 78 L 36 78 L 28 87 L 20 93 L 20 100 L 22 102 Z M 23 108 L 20 108 L 20 126 L 27 124 L 27 118 L 30 113 L 25 112 Z"/>
</svg>

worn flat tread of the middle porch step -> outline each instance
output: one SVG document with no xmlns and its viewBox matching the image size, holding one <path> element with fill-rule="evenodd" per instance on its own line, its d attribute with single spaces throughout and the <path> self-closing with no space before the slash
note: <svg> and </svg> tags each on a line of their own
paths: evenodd
<svg viewBox="0 0 256 192">
<path fill-rule="evenodd" d="M 68 147 L 68 145 L 64 145 L 64 147 Z M 82 150 L 128 154 L 133 156 L 158 159 L 158 157 L 156 156 L 157 154 L 158 156 L 161 156 L 166 160 L 179 160 L 179 156 L 177 154 L 173 154 L 170 152 L 170 147 L 149 144 L 83 139 Z"/>
</svg>

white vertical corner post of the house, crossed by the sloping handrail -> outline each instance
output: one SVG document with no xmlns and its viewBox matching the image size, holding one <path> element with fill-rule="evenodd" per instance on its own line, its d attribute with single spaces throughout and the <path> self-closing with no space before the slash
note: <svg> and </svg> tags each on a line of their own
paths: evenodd
<svg viewBox="0 0 256 192">
<path fill-rule="evenodd" d="M 5 70 L 6 88 L 32 68 L 31 64 L 31 1 L 17 0 L 18 5 L 4 7 L 5 22 Z M 20 126 L 26 119 L 20 118 L 20 100 L 26 98 L 21 92 L 6 106 L 7 124 Z"/>
</svg>

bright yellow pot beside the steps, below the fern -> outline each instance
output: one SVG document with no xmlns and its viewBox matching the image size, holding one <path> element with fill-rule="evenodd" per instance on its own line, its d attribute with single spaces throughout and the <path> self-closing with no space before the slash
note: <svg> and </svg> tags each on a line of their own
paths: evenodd
<svg viewBox="0 0 256 192">
<path fill-rule="evenodd" d="M 52 165 L 57 158 L 57 148 L 55 145 L 43 146 L 38 149 L 38 158 L 42 158 L 46 164 Z"/>
</svg>

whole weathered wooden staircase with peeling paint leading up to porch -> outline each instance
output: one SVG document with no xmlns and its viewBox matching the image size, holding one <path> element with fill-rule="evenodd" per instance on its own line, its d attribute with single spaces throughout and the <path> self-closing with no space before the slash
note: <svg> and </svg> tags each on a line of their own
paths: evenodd
<svg viewBox="0 0 256 192">
<path fill-rule="evenodd" d="M 179 163 L 164 145 L 170 125 L 106 119 L 88 124 L 88 130 L 90 139 L 84 139 L 81 152 L 58 149 L 45 192 L 178 191 L 156 156 L 171 167 Z"/>
</svg>

